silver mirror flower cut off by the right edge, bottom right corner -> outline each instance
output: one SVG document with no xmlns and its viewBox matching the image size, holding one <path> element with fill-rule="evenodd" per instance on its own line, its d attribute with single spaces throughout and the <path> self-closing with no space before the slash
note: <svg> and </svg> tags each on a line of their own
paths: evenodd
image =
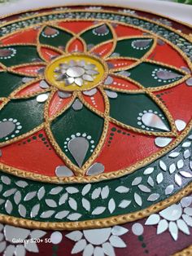
<svg viewBox="0 0 192 256">
<path fill-rule="evenodd" d="M 159 214 L 152 214 L 146 219 L 145 225 L 157 226 L 157 234 L 168 230 L 172 238 L 177 241 L 178 232 L 190 235 L 189 227 L 192 227 L 192 196 L 181 199 L 180 203 L 161 210 Z"/>
</svg>

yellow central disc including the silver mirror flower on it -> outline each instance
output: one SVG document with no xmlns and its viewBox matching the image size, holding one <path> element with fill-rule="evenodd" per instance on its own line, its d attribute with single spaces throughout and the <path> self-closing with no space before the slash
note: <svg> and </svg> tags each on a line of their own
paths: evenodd
<svg viewBox="0 0 192 256">
<path fill-rule="evenodd" d="M 45 76 L 59 90 L 90 90 L 107 77 L 107 64 L 92 55 L 63 55 L 48 64 Z"/>
</svg>

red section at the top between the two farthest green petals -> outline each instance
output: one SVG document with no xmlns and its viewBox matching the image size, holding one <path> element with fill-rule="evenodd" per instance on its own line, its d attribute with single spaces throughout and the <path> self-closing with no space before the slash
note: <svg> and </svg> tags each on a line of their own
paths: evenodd
<svg viewBox="0 0 192 256">
<path fill-rule="evenodd" d="M 59 22 L 58 25 L 63 29 L 68 29 L 73 33 L 80 33 L 82 30 L 89 28 L 94 24 L 93 21 L 70 21 L 70 22 Z"/>
</svg>

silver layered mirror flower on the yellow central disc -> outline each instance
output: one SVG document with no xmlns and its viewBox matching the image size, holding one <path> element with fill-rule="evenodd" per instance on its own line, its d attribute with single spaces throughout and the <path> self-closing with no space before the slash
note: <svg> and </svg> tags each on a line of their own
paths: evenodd
<svg viewBox="0 0 192 256">
<path fill-rule="evenodd" d="M 94 76 L 98 74 L 95 70 L 94 64 L 86 64 L 84 60 L 79 62 L 71 60 L 68 63 L 59 64 L 58 68 L 55 68 L 55 75 L 58 81 L 64 81 L 66 86 L 75 83 L 77 86 L 82 86 L 83 82 L 94 81 Z"/>
</svg>

